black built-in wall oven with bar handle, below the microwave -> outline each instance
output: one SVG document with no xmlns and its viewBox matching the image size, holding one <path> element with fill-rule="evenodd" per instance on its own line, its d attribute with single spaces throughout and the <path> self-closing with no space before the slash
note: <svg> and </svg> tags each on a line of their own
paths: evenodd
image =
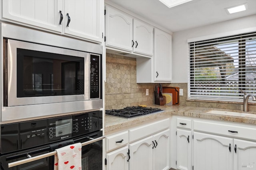
<svg viewBox="0 0 256 170">
<path fill-rule="evenodd" d="M 8 168 L 8 163 L 47 154 L 72 143 L 82 146 L 82 170 L 102 170 L 102 111 L 1 125 L 1 170 L 53 170 L 54 156 Z"/>
</svg>

